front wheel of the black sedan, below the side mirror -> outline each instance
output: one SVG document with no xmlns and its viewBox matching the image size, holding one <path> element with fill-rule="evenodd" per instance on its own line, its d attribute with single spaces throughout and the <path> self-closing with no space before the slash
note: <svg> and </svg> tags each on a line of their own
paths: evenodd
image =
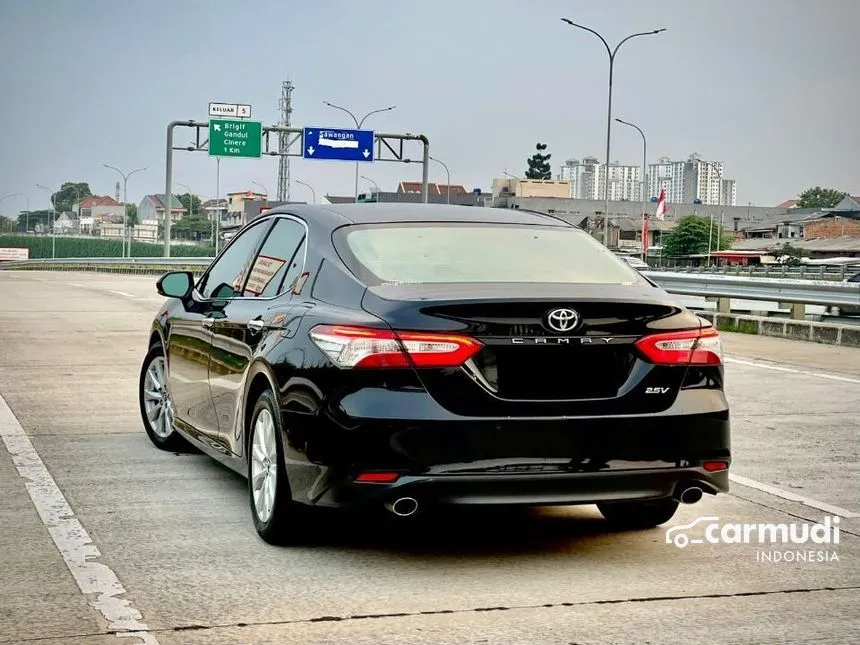
<svg viewBox="0 0 860 645">
<path fill-rule="evenodd" d="M 137 391 L 149 440 L 161 450 L 187 451 L 189 443 L 173 428 L 176 413 L 167 380 L 167 357 L 159 342 L 152 344 L 143 359 Z"/>
</svg>

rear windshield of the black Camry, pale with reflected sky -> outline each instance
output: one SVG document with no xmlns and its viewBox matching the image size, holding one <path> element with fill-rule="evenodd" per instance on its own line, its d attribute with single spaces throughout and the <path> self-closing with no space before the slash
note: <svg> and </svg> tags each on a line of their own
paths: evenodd
<svg viewBox="0 0 860 645">
<path fill-rule="evenodd" d="M 374 224 L 337 232 L 349 269 L 365 284 L 645 282 L 576 228 L 508 224 Z"/>
</svg>

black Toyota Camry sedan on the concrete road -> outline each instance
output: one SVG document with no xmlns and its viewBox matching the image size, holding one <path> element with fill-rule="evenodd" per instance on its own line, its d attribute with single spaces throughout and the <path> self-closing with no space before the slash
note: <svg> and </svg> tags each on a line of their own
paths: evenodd
<svg viewBox="0 0 860 645">
<path fill-rule="evenodd" d="M 307 540 L 310 507 L 644 528 L 728 490 L 717 331 L 552 216 L 284 206 L 157 288 L 146 432 L 245 475 L 268 542 Z"/>
</svg>

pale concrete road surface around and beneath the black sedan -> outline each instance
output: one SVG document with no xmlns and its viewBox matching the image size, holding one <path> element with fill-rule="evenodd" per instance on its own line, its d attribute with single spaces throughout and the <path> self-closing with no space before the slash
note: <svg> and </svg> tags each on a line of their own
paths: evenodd
<svg viewBox="0 0 860 645">
<path fill-rule="evenodd" d="M 860 642 L 860 350 L 727 335 L 732 491 L 666 527 L 337 516 L 275 548 L 243 479 L 143 433 L 153 285 L 0 272 L 0 644 Z M 834 514 L 838 544 L 665 539 Z"/>
</svg>

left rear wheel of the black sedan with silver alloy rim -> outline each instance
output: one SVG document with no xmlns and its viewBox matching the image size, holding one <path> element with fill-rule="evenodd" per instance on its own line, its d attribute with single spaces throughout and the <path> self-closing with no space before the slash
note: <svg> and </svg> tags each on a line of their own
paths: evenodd
<svg viewBox="0 0 860 645">
<path fill-rule="evenodd" d="M 311 531 L 309 509 L 293 501 L 284 460 L 283 426 L 275 395 L 257 399 L 247 427 L 248 501 L 257 534 L 269 544 L 299 545 Z"/>
</svg>

